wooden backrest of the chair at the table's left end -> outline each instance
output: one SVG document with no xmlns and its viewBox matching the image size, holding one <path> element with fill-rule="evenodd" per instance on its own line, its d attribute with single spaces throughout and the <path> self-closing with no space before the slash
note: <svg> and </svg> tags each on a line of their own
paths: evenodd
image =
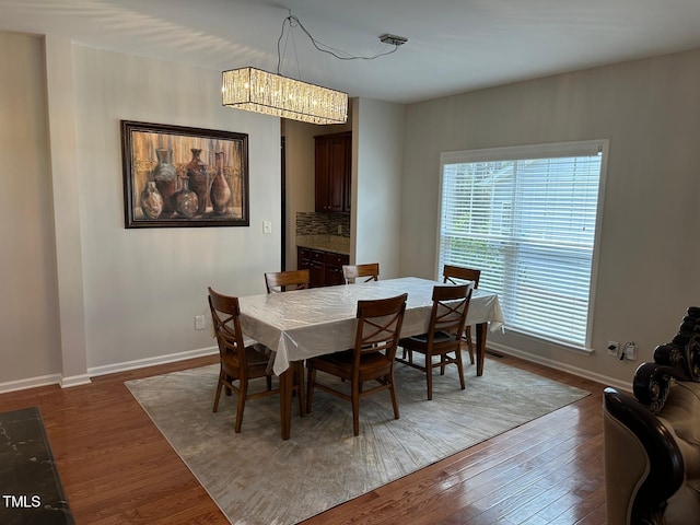
<svg viewBox="0 0 700 525">
<path fill-rule="evenodd" d="M 219 353 L 245 366 L 245 345 L 241 330 L 238 298 L 223 295 L 209 288 L 209 308 L 219 343 Z"/>
</svg>

